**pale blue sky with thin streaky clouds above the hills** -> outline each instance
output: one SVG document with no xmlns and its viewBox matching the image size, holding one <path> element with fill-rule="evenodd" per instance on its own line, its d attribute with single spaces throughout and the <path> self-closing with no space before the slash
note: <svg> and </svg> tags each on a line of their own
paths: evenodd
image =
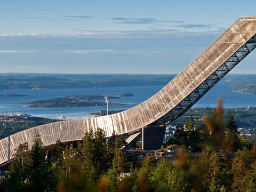
<svg viewBox="0 0 256 192">
<path fill-rule="evenodd" d="M 0 1 L 0 71 L 177 74 L 246 1 Z M 251 53 L 233 73 L 256 73 Z"/>
</svg>

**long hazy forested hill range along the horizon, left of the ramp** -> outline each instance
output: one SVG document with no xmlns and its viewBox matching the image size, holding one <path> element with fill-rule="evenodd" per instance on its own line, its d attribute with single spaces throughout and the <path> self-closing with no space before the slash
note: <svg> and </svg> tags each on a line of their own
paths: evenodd
<svg viewBox="0 0 256 192">
<path fill-rule="evenodd" d="M 129 74 L 0 74 L 0 89 L 73 89 L 165 85 L 176 75 Z"/>
</svg>

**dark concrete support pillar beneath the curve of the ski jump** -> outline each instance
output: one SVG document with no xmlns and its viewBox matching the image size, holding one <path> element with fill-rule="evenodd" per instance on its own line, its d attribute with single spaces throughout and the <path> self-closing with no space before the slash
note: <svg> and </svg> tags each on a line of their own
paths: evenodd
<svg viewBox="0 0 256 192">
<path fill-rule="evenodd" d="M 164 140 L 165 126 L 146 126 L 142 127 L 142 143 L 143 150 L 160 149 Z"/>
</svg>

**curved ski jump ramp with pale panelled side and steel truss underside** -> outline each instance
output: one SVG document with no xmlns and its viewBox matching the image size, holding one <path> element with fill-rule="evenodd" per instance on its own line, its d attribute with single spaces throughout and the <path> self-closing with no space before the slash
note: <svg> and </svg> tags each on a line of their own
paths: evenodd
<svg viewBox="0 0 256 192">
<path fill-rule="evenodd" d="M 180 74 L 145 102 L 113 115 L 51 123 L 13 134 L 0 140 L 0 164 L 12 158 L 20 143 L 28 142 L 31 147 L 37 133 L 44 145 L 49 146 L 58 139 L 62 142 L 81 140 L 85 132 L 97 127 L 109 137 L 113 131 L 129 134 L 153 123 L 170 123 L 256 47 L 255 34 L 256 17 L 237 19 Z"/>
</svg>

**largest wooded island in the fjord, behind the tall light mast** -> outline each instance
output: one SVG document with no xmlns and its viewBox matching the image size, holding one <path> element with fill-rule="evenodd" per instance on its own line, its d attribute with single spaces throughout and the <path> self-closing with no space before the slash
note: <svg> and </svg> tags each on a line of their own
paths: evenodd
<svg viewBox="0 0 256 192">
<path fill-rule="evenodd" d="M 108 99 L 121 99 L 109 96 Z M 40 101 L 25 102 L 23 107 L 94 107 L 105 106 L 105 98 L 102 95 L 71 95 L 62 98 L 54 98 Z M 110 106 L 122 106 L 124 103 L 109 103 Z"/>
</svg>

